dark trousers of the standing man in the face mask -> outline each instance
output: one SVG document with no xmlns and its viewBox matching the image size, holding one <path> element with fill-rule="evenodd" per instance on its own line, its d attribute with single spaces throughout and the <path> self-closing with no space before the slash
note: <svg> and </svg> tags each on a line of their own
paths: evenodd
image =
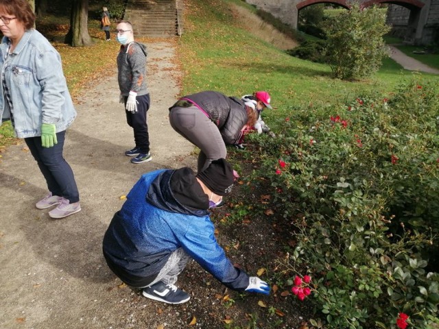
<svg viewBox="0 0 439 329">
<path fill-rule="evenodd" d="M 125 106 L 126 100 L 125 97 Z M 148 134 L 148 125 L 146 120 L 146 113 L 150 109 L 150 94 L 137 96 L 137 112 L 131 113 L 125 110 L 126 122 L 132 130 L 134 130 L 134 143 L 136 147 L 141 150 L 142 154 L 148 154 L 150 152 L 150 135 Z"/>
</svg>

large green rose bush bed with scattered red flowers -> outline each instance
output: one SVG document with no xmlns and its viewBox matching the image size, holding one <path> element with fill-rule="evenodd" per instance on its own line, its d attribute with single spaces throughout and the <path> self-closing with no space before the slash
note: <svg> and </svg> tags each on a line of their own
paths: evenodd
<svg viewBox="0 0 439 329">
<path fill-rule="evenodd" d="M 250 135 L 250 179 L 294 236 L 283 265 L 313 278 L 313 326 L 438 328 L 438 90 L 292 108 L 276 138 Z"/>
</svg>

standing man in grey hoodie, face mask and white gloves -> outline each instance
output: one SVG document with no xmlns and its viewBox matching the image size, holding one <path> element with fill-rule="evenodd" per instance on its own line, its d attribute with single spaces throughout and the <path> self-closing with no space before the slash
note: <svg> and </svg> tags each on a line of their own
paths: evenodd
<svg viewBox="0 0 439 329">
<path fill-rule="evenodd" d="M 125 104 L 126 121 L 134 130 L 134 148 L 125 152 L 134 156 L 132 163 L 152 160 L 150 136 L 147 126 L 147 111 L 150 108 L 150 93 L 146 84 L 147 49 L 134 41 L 132 24 L 120 21 L 116 27 L 117 41 L 121 49 L 117 55 L 117 81 L 121 95 L 119 101 Z"/>
</svg>

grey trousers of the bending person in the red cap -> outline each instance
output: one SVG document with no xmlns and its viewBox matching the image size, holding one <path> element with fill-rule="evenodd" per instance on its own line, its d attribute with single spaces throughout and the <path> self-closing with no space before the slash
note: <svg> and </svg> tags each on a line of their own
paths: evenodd
<svg viewBox="0 0 439 329">
<path fill-rule="evenodd" d="M 172 108 L 169 122 L 178 134 L 200 149 L 198 173 L 209 167 L 213 160 L 226 158 L 226 144 L 218 127 L 196 106 Z"/>
</svg>

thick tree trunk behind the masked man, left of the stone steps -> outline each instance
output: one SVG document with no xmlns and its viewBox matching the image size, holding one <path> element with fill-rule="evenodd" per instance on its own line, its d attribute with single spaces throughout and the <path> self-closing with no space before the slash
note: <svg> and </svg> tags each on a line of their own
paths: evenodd
<svg viewBox="0 0 439 329">
<path fill-rule="evenodd" d="M 70 16 L 70 29 L 64 42 L 73 47 L 93 45 L 88 34 L 88 0 L 73 0 Z"/>
</svg>

